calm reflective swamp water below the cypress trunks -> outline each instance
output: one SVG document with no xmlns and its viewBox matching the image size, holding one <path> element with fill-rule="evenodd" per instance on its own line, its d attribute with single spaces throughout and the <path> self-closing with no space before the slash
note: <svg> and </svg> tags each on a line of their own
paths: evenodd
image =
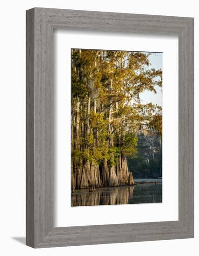
<svg viewBox="0 0 199 256">
<path fill-rule="evenodd" d="M 78 189 L 71 195 L 72 207 L 156 202 L 162 202 L 161 182 L 99 188 L 93 192 Z"/>
</svg>

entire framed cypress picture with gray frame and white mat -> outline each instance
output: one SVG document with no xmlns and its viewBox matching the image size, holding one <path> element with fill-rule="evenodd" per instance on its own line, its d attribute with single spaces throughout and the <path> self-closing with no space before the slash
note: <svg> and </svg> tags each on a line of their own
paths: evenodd
<svg viewBox="0 0 199 256">
<path fill-rule="evenodd" d="M 27 245 L 194 236 L 193 18 L 27 10 Z"/>
</svg>

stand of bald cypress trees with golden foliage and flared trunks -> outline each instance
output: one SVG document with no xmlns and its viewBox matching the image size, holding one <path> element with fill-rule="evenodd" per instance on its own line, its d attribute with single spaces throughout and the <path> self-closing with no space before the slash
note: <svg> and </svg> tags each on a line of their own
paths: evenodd
<svg viewBox="0 0 199 256">
<path fill-rule="evenodd" d="M 133 184 L 126 155 L 137 134 L 161 132 L 161 108 L 139 95 L 156 93 L 162 71 L 150 69 L 149 54 L 123 51 L 72 52 L 71 186 L 74 189 Z"/>
</svg>

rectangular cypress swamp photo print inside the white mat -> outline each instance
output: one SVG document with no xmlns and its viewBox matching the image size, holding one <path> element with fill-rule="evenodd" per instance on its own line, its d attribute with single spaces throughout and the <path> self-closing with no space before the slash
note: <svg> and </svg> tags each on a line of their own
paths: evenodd
<svg viewBox="0 0 199 256">
<path fill-rule="evenodd" d="M 162 53 L 71 49 L 72 207 L 162 202 L 161 64 Z"/>
</svg>

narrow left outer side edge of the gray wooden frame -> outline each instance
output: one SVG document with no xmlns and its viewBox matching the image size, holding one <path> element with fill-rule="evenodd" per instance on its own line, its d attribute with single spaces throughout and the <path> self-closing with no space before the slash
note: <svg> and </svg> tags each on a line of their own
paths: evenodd
<svg viewBox="0 0 199 256">
<path fill-rule="evenodd" d="M 26 243 L 34 246 L 34 11 L 26 17 Z"/>
</svg>

